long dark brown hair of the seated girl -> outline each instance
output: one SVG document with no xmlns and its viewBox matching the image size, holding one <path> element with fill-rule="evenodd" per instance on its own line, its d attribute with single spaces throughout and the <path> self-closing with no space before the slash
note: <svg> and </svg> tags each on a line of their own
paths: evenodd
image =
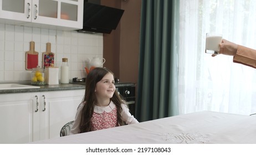
<svg viewBox="0 0 256 155">
<path fill-rule="evenodd" d="M 94 106 L 96 104 L 95 87 L 97 82 L 103 79 L 103 77 L 107 73 L 111 73 L 114 76 L 114 74 L 109 69 L 95 68 L 91 70 L 86 77 L 85 95 L 83 100 L 85 102 L 85 105 L 82 110 L 81 122 L 80 122 L 81 133 L 91 131 L 91 117 L 93 116 Z M 114 102 L 117 108 L 117 126 L 124 125 L 125 124 L 124 121 L 121 120 L 122 100 L 116 90 L 110 100 Z"/>
</svg>

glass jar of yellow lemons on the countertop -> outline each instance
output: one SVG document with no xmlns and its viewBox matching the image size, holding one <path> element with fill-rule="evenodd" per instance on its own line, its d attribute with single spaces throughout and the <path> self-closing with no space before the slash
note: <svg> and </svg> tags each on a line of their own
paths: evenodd
<svg viewBox="0 0 256 155">
<path fill-rule="evenodd" d="M 45 78 L 44 78 L 44 69 L 37 66 L 37 68 L 33 68 L 31 73 L 31 84 L 32 85 L 45 85 Z"/>
</svg>

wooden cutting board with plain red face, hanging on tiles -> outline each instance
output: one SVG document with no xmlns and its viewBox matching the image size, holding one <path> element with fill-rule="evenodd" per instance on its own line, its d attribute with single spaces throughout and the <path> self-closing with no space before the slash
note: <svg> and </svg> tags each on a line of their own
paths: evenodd
<svg viewBox="0 0 256 155">
<path fill-rule="evenodd" d="M 35 42 L 30 42 L 30 49 L 25 53 L 25 69 L 32 70 L 38 66 L 38 52 L 35 51 Z"/>
</svg>

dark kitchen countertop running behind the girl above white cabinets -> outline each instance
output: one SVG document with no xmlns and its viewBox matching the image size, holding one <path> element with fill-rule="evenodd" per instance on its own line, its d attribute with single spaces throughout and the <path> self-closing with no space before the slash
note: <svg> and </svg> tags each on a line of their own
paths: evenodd
<svg viewBox="0 0 256 155">
<path fill-rule="evenodd" d="M 22 84 L 22 83 L 21 83 Z M 30 84 L 25 84 L 30 85 Z M 59 84 L 59 85 L 37 85 L 40 88 L 35 89 L 13 89 L 13 90 L 0 90 L 0 94 L 22 93 L 22 92 L 40 92 L 40 91 L 62 91 L 62 90 L 79 90 L 85 89 L 85 84 Z M 135 86 L 132 83 L 116 83 L 116 87 Z"/>
</svg>

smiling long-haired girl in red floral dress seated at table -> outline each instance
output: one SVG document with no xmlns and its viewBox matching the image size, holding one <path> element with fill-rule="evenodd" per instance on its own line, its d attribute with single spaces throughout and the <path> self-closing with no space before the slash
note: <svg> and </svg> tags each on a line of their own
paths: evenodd
<svg viewBox="0 0 256 155">
<path fill-rule="evenodd" d="M 84 101 L 78 106 L 70 135 L 139 123 L 116 91 L 114 74 L 106 68 L 90 71 Z"/>
</svg>

